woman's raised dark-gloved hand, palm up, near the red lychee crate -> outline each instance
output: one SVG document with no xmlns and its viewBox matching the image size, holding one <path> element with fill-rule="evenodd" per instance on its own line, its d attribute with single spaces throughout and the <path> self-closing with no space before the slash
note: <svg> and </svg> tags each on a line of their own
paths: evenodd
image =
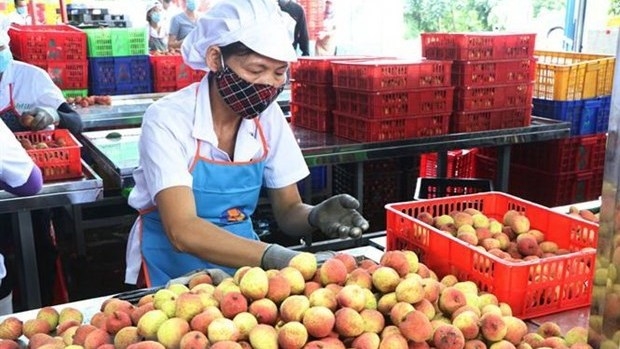
<svg viewBox="0 0 620 349">
<path fill-rule="evenodd" d="M 357 212 L 360 204 L 348 194 L 339 194 L 314 206 L 308 223 L 331 238 L 358 238 L 368 230 L 368 221 Z"/>
</svg>

